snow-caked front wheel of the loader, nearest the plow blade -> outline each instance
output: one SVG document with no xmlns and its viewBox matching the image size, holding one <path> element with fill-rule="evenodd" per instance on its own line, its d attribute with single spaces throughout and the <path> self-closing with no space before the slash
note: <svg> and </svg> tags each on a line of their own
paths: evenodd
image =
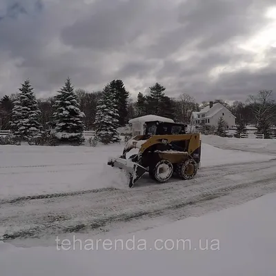
<svg viewBox="0 0 276 276">
<path fill-rule="evenodd" d="M 158 161 L 149 170 L 150 177 L 157 182 L 166 182 L 173 174 L 172 163 L 166 159 Z"/>
</svg>

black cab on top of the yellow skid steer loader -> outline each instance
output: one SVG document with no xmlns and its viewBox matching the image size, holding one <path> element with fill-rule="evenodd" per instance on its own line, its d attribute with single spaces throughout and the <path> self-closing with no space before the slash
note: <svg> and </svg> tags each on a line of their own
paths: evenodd
<svg viewBox="0 0 276 276">
<path fill-rule="evenodd" d="M 161 121 L 147 121 L 145 123 L 144 135 L 183 135 L 186 134 L 186 125 L 177 123 L 166 123 Z"/>
</svg>

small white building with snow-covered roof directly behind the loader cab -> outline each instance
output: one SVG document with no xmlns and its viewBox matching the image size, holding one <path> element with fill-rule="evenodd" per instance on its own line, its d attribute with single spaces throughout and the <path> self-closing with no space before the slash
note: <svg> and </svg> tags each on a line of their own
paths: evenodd
<svg viewBox="0 0 276 276">
<path fill-rule="evenodd" d="M 144 130 L 145 130 L 144 124 L 146 123 L 146 121 L 162 121 L 167 123 L 174 123 L 172 119 L 168 119 L 166 117 L 160 117 L 157 115 L 146 115 L 146 116 L 131 119 L 128 121 L 128 123 L 131 126 L 131 132 L 133 137 L 136 135 L 144 134 Z"/>
</svg>

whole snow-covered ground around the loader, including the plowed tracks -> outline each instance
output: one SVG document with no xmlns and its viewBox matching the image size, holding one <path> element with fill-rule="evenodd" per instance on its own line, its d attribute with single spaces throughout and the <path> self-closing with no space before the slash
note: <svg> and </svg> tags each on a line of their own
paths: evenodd
<svg viewBox="0 0 276 276">
<path fill-rule="evenodd" d="M 0 275 L 275 275 L 276 141 L 202 139 L 195 179 L 156 184 L 144 175 L 132 189 L 106 164 L 123 144 L 0 146 Z M 57 236 L 133 235 L 148 244 L 191 239 L 197 247 L 199 239 L 219 239 L 220 250 L 55 247 Z"/>
</svg>

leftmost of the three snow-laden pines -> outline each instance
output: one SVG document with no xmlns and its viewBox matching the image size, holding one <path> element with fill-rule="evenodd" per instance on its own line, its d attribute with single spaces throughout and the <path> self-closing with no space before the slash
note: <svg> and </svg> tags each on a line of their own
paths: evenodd
<svg viewBox="0 0 276 276">
<path fill-rule="evenodd" d="M 38 108 L 37 99 L 32 92 L 30 80 L 26 79 L 19 88 L 17 100 L 12 108 L 12 134 L 23 140 L 34 139 L 41 135 L 41 124 L 39 122 L 41 111 Z"/>
</svg>

